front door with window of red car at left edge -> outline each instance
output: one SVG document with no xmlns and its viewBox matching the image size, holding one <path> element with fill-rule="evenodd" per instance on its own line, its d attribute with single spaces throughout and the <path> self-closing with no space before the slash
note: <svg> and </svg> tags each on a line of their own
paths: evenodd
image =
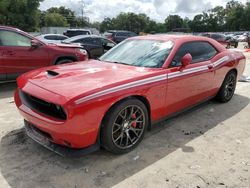
<svg viewBox="0 0 250 188">
<path fill-rule="evenodd" d="M 48 63 L 46 46 L 31 47 L 31 40 L 18 32 L 0 30 L 1 67 L 7 79 L 45 66 Z"/>
</svg>

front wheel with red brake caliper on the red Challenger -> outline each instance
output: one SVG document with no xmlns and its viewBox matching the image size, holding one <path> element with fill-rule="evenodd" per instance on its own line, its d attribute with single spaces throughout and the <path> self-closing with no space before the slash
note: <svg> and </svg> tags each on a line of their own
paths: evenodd
<svg viewBox="0 0 250 188">
<path fill-rule="evenodd" d="M 143 102 L 132 98 L 116 104 L 104 118 L 102 146 L 115 154 L 130 152 L 142 141 L 148 121 Z"/>
</svg>

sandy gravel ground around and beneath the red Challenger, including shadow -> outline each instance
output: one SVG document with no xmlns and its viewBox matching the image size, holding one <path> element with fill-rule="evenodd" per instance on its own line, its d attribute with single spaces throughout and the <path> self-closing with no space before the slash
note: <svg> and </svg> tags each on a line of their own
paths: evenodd
<svg viewBox="0 0 250 188">
<path fill-rule="evenodd" d="M 129 154 L 79 159 L 25 136 L 15 88 L 0 85 L 0 187 L 250 187 L 250 83 L 239 82 L 227 104 L 208 101 L 157 124 Z"/>
</svg>

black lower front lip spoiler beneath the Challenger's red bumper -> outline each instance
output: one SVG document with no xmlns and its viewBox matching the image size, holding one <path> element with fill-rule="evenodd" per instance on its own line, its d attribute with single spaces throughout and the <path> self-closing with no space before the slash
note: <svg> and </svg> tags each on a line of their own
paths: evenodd
<svg viewBox="0 0 250 188">
<path fill-rule="evenodd" d="M 50 137 L 46 135 L 46 133 L 37 129 L 31 123 L 24 121 L 26 134 L 37 143 L 41 144 L 45 148 L 63 156 L 63 157 L 82 157 L 94 151 L 100 149 L 100 145 L 98 143 L 89 146 L 83 149 L 72 149 L 66 146 L 61 146 L 55 144 L 51 141 Z"/>
</svg>

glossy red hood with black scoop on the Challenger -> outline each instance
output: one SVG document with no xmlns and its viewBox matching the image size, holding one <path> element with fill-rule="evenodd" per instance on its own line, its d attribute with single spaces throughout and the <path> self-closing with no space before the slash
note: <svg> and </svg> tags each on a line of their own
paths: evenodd
<svg viewBox="0 0 250 188">
<path fill-rule="evenodd" d="M 52 66 L 23 75 L 26 82 L 72 99 L 158 74 L 157 69 L 90 60 Z"/>
</svg>

